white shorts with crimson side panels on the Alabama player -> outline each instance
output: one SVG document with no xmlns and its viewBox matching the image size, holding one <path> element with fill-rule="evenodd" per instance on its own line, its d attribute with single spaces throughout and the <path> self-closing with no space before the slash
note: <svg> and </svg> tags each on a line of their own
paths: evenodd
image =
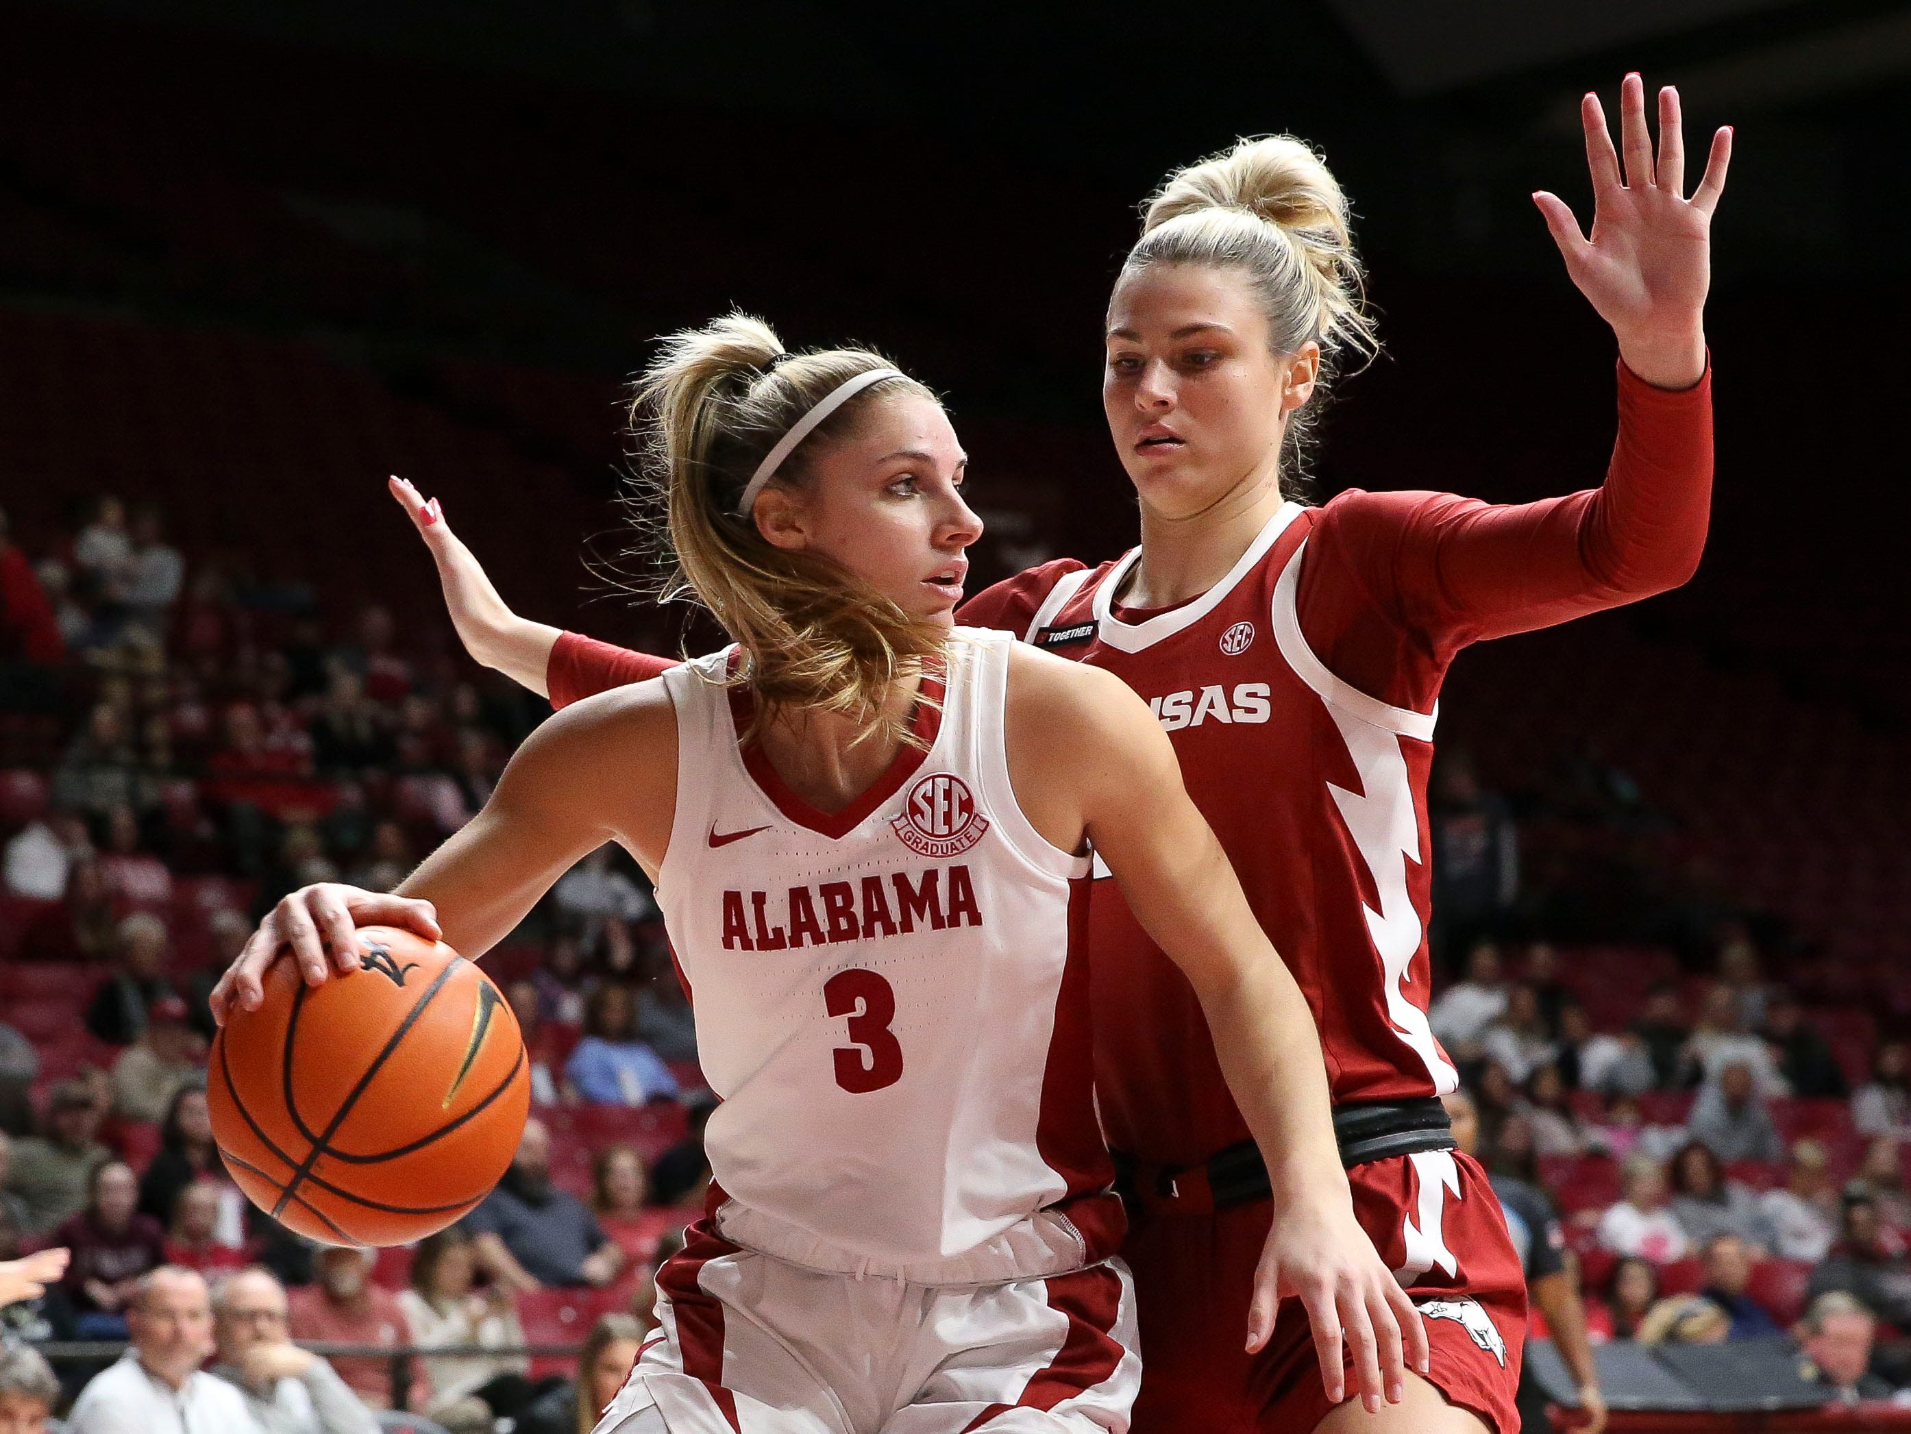
<svg viewBox="0 0 1911 1434">
<path fill-rule="evenodd" d="M 1127 1268 L 1001 1285 L 822 1273 L 690 1229 L 596 1434 L 1124 1434 Z"/>
</svg>

